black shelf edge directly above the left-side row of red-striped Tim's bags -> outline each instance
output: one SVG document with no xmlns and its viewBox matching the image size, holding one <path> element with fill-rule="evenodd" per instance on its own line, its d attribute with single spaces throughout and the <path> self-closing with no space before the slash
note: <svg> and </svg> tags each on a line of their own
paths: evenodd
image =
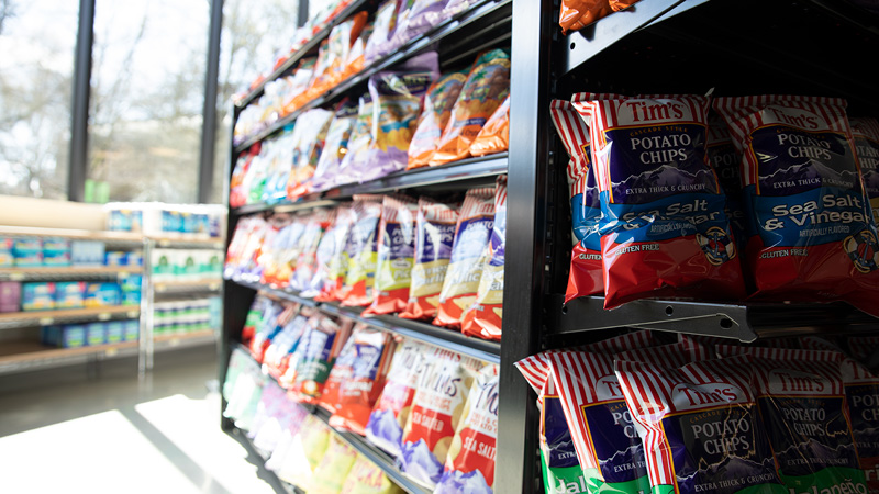
<svg viewBox="0 0 879 494">
<path fill-rule="evenodd" d="M 463 159 L 437 167 L 401 170 L 365 183 L 340 186 L 322 194 L 313 195 L 312 198 L 292 204 L 248 204 L 233 210 L 232 213 L 235 215 L 244 215 L 262 213 L 264 211 L 275 211 L 277 213 L 290 212 L 301 209 L 334 205 L 334 200 L 347 199 L 354 194 L 391 192 L 412 188 L 429 188 L 438 184 L 442 184 L 443 188 L 446 189 L 453 187 L 460 188 L 461 182 L 487 181 L 493 177 L 505 173 L 507 162 L 507 153 L 498 153 L 496 155 Z"/>
</svg>

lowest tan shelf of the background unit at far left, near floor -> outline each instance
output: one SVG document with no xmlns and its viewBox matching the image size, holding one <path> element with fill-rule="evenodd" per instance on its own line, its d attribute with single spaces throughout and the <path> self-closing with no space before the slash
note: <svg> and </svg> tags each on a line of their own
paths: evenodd
<svg viewBox="0 0 879 494">
<path fill-rule="evenodd" d="M 3 341 L 0 345 L 0 374 L 136 355 L 137 341 L 79 348 L 52 348 L 36 340 Z"/>
</svg>

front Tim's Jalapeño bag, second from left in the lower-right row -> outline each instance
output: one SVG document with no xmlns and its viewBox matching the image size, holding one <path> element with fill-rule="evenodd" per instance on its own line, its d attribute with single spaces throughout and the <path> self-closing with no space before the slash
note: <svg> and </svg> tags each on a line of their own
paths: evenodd
<svg viewBox="0 0 879 494">
<path fill-rule="evenodd" d="M 617 360 L 615 372 L 632 433 L 643 441 L 649 492 L 788 493 L 760 420 L 749 356 L 678 369 Z"/>
</svg>

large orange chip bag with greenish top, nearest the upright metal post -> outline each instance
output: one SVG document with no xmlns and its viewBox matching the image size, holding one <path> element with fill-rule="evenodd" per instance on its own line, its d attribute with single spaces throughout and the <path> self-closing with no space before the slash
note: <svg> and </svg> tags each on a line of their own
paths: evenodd
<svg viewBox="0 0 879 494">
<path fill-rule="evenodd" d="M 480 54 L 452 109 L 430 165 L 470 156 L 470 144 L 509 92 L 510 54 L 503 49 Z"/>
</svg>

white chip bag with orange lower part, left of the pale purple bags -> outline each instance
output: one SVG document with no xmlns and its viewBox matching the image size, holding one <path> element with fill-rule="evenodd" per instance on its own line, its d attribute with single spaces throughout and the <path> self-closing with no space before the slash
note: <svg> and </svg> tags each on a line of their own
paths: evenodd
<svg viewBox="0 0 879 494">
<path fill-rule="evenodd" d="M 293 148 L 293 171 L 290 172 L 290 181 L 287 183 L 287 199 L 290 201 L 296 201 L 311 191 L 311 177 L 321 158 L 332 117 L 333 112 L 318 108 L 307 111 L 297 119 L 293 133 L 302 131 Z"/>
</svg>

